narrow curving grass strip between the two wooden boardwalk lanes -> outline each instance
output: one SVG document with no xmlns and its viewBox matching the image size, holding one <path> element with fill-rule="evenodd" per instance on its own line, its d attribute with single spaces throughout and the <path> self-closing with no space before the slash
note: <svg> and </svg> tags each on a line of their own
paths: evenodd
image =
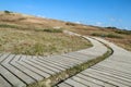
<svg viewBox="0 0 131 87">
<path fill-rule="evenodd" d="M 96 40 L 96 39 L 95 39 Z M 99 41 L 102 42 L 102 41 Z M 86 61 L 82 64 L 78 64 L 75 66 L 72 66 L 70 69 L 67 69 L 66 71 L 62 71 L 60 73 L 57 73 L 46 79 L 43 79 L 40 82 L 36 82 L 33 84 L 29 84 L 27 87 L 52 87 L 57 84 L 62 83 L 63 80 L 76 75 L 78 73 L 95 65 L 96 63 L 104 61 L 105 59 L 107 59 L 108 57 L 110 57 L 114 53 L 114 50 L 106 44 L 102 42 L 105 47 L 107 47 L 107 51 L 100 55 L 97 57 L 96 59 L 92 59 L 90 61 Z"/>
</svg>

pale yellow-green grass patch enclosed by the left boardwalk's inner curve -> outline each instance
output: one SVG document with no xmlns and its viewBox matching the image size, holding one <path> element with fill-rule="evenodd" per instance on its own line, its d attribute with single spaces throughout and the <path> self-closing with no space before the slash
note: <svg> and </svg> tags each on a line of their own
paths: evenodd
<svg viewBox="0 0 131 87">
<path fill-rule="evenodd" d="M 88 46 L 88 41 L 63 33 L 0 28 L 1 52 L 49 55 L 76 51 Z"/>
</svg>

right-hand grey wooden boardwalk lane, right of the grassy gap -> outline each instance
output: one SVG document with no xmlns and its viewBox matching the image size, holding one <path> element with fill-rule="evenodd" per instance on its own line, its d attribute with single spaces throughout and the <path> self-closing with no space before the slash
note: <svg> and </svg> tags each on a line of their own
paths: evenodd
<svg viewBox="0 0 131 87">
<path fill-rule="evenodd" d="M 56 87 L 131 87 L 131 52 L 104 39 L 96 39 L 109 45 L 112 55 Z"/>
</svg>

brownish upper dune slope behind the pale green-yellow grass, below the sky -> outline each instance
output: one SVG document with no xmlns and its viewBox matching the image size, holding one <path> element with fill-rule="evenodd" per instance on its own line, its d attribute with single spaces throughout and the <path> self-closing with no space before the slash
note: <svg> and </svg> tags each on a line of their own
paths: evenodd
<svg viewBox="0 0 131 87">
<path fill-rule="evenodd" d="M 4 14 L 3 12 L 0 12 L 0 24 L 9 24 L 12 25 L 12 27 L 19 26 L 17 29 L 22 30 L 44 30 L 45 28 L 60 27 L 73 30 L 82 35 L 97 35 L 97 37 L 104 37 L 131 51 L 131 32 L 86 26 L 70 22 L 41 18 L 17 13 Z"/>
</svg>

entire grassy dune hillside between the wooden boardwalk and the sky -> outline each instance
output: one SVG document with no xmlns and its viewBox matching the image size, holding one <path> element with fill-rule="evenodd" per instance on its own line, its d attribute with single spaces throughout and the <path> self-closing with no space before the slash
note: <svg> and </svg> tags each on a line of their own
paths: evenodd
<svg viewBox="0 0 131 87">
<path fill-rule="evenodd" d="M 48 55 L 92 46 L 80 37 L 64 34 L 64 29 L 102 37 L 131 51 L 131 30 L 83 25 L 8 11 L 0 12 L 0 51 Z"/>
</svg>

